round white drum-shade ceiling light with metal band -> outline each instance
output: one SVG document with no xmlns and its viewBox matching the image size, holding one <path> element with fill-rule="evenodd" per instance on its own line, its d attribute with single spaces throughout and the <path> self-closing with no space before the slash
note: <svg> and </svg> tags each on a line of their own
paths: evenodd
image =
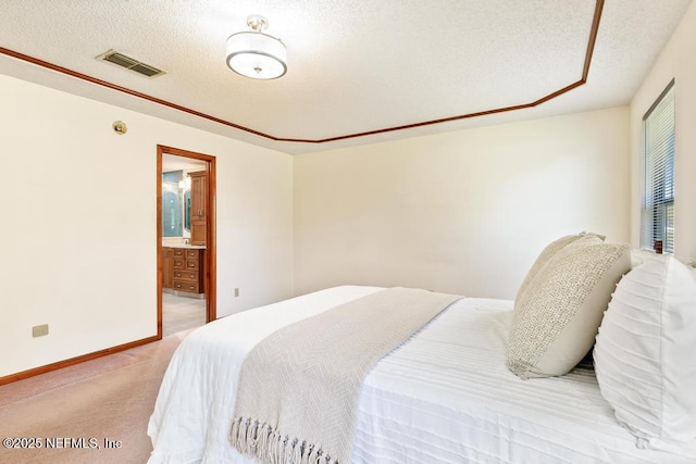
<svg viewBox="0 0 696 464">
<path fill-rule="evenodd" d="M 251 30 L 227 38 L 227 66 L 252 79 L 277 79 L 287 72 L 287 50 L 279 39 L 263 34 L 269 27 L 265 17 L 247 17 Z"/>
</svg>

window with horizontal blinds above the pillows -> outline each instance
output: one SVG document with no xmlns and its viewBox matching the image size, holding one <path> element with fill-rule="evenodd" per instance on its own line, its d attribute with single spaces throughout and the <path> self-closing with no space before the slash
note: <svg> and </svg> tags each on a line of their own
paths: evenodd
<svg viewBox="0 0 696 464">
<path fill-rule="evenodd" d="M 674 252 L 674 80 L 643 116 L 641 248 Z"/>
</svg>

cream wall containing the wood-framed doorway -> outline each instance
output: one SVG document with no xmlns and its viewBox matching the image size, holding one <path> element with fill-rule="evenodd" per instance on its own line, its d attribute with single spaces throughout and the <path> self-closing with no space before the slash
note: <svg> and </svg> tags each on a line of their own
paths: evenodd
<svg viewBox="0 0 696 464">
<path fill-rule="evenodd" d="M 0 101 L 0 377 L 156 335 L 158 143 L 216 156 L 217 314 L 291 296 L 291 156 L 3 75 Z"/>
</svg>

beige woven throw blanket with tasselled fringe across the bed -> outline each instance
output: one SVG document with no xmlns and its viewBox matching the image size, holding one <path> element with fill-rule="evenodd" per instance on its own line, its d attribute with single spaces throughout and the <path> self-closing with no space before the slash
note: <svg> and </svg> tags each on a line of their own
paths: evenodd
<svg viewBox="0 0 696 464">
<path fill-rule="evenodd" d="M 390 288 L 284 327 L 241 366 L 232 444 L 272 464 L 347 464 L 372 366 L 461 297 Z"/>
</svg>

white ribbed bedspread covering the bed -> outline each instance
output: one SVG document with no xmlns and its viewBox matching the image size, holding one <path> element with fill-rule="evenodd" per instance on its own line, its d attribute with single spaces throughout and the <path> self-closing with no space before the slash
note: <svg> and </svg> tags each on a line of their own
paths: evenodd
<svg viewBox="0 0 696 464">
<path fill-rule="evenodd" d="M 251 463 L 227 440 L 244 356 L 275 329 L 376 287 L 337 287 L 209 324 L 182 343 L 148 434 L 151 463 Z M 363 385 L 353 463 L 696 463 L 639 450 L 592 369 L 521 380 L 505 367 L 512 303 L 463 299 L 378 362 Z"/>
</svg>

